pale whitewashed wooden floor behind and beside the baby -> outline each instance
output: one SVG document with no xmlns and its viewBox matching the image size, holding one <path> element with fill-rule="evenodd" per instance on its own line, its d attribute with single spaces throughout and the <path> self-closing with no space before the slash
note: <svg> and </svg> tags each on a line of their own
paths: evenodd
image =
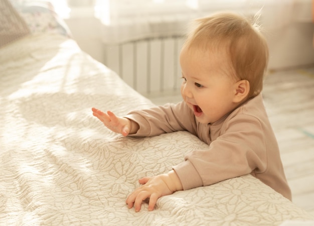
<svg viewBox="0 0 314 226">
<path fill-rule="evenodd" d="M 148 97 L 164 104 L 180 101 L 178 93 Z M 314 215 L 314 66 L 270 72 L 263 97 L 292 201 Z"/>
</svg>

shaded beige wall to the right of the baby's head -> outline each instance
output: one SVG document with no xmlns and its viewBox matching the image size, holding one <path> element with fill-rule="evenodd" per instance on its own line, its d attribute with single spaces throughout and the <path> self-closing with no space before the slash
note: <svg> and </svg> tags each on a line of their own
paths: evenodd
<svg viewBox="0 0 314 226">
<path fill-rule="evenodd" d="M 290 22 L 265 34 L 269 68 L 283 69 L 314 64 L 312 1 L 295 0 Z"/>
</svg>

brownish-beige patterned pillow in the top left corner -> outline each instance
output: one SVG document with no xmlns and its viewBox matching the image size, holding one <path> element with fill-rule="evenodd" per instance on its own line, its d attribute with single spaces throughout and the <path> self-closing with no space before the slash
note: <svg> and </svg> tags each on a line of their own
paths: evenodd
<svg viewBox="0 0 314 226">
<path fill-rule="evenodd" d="M 0 1 L 0 48 L 30 34 L 25 21 L 8 0 Z"/>
</svg>

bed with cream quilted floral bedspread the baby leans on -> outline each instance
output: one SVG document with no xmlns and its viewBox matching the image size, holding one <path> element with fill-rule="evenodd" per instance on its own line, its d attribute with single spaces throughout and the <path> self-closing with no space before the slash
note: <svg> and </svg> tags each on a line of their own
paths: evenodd
<svg viewBox="0 0 314 226">
<path fill-rule="evenodd" d="M 19 17 L 16 23 L 30 18 L 1 1 L 7 16 Z M 92 107 L 123 115 L 153 104 L 84 53 L 59 22 L 40 32 L 28 22 L 21 26 L 13 36 L 1 33 L 0 225 L 279 225 L 313 219 L 251 175 L 164 196 L 153 211 L 147 203 L 140 212 L 128 209 L 125 199 L 138 178 L 168 172 L 206 144 L 188 132 L 132 138 L 109 131 Z"/>
</svg>

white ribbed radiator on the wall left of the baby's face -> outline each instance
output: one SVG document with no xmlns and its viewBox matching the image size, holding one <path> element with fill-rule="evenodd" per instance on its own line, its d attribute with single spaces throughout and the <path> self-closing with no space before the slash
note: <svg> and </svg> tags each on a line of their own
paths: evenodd
<svg viewBox="0 0 314 226">
<path fill-rule="evenodd" d="M 177 91 L 183 42 L 175 36 L 106 45 L 105 64 L 141 94 Z"/>
</svg>

